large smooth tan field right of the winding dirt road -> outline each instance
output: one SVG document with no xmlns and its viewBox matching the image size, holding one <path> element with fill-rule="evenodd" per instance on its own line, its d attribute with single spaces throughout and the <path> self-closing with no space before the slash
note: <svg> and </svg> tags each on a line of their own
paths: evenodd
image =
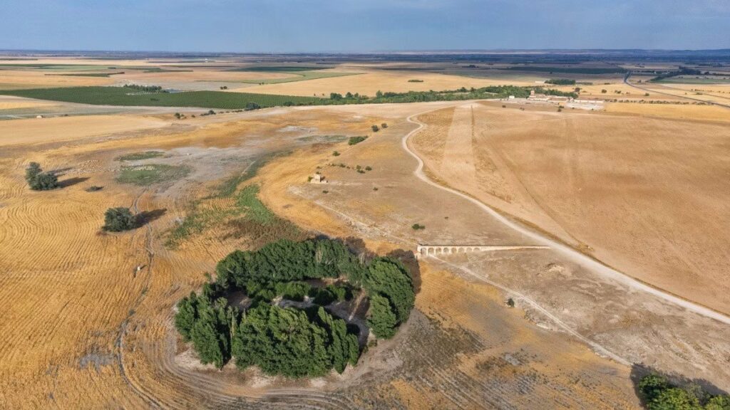
<svg viewBox="0 0 730 410">
<path fill-rule="evenodd" d="M 730 237 L 718 224 L 730 217 L 726 123 L 490 104 L 421 120 L 433 127 L 414 145 L 439 180 L 619 271 L 730 312 Z"/>
</svg>

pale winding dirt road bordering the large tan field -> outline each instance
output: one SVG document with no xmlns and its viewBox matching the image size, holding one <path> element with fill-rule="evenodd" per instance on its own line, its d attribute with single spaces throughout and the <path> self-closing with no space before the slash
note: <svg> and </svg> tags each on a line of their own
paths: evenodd
<svg viewBox="0 0 730 410">
<path fill-rule="evenodd" d="M 572 247 L 569 247 L 565 244 L 561 244 L 560 242 L 558 242 L 556 240 L 550 239 L 547 236 L 543 236 L 542 234 L 537 233 L 535 231 L 531 231 L 531 229 L 526 228 L 523 225 L 520 225 L 518 223 L 515 223 L 512 220 L 507 219 L 507 217 L 504 217 L 504 215 L 500 214 L 499 212 L 496 212 L 494 209 L 487 206 L 483 202 L 477 200 L 476 198 L 472 198 L 471 196 L 467 196 L 466 194 L 458 192 L 457 190 L 453 190 L 450 187 L 445 187 L 443 185 L 439 185 L 437 182 L 432 181 L 423 172 L 423 160 L 421 160 L 420 157 L 418 155 L 416 155 L 415 152 L 410 150 L 410 147 L 408 147 L 408 139 L 410 139 L 411 136 L 415 135 L 416 133 L 418 133 L 418 131 L 420 131 L 421 129 L 423 129 L 426 126 L 425 124 L 421 123 L 419 120 L 416 120 L 415 117 L 418 117 L 419 115 L 423 115 L 423 114 L 426 114 L 426 112 L 431 112 L 431 111 L 435 111 L 435 109 L 429 109 L 428 111 L 419 112 L 417 114 L 414 114 L 414 115 L 411 115 L 410 117 L 408 117 L 407 121 L 409 123 L 414 123 L 414 124 L 418 125 L 418 128 L 415 128 L 413 131 L 410 131 L 410 133 L 406 134 L 403 137 L 403 139 L 401 139 L 401 144 L 403 146 L 403 149 L 406 152 L 408 152 L 413 158 L 415 158 L 415 160 L 418 161 L 418 166 L 416 167 L 415 171 L 413 171 L 413 174 L 415 174 L 415 176 L 418 177 L 418 179 L 422 180 L 423 182 L 426 182 L 427 184 L 431 185 L 432 187 L 437 187 L 440 190 L 445 190 L 448 193 L 452 193 L 453 195 L 466 199 L 466 201 L 472 202 L 472 204 L 479 206 L 480 209 L 482 209 L 484 212 L 486 212 L 487 214 L 490 214 L 491 217 L 493 217 L 494 219 L 503 223 L 504 225 L 507 225 L 507 227 L 512 228 L 512 230 L 517 231 L 517 232 L 523 234 L 524 236 L 527 236 L 530 239 L 533 239 L 538 244 L 542 244 L 542 245 L 550 247 L 552 250 L 563 255 L 565 258 L 572 260 L 574 263 L 577 263 L 580 266 L 583 266 L 584 268 L 590 269 L 591 271 L 595 272 L 596 274 L 599 274 L 606 278 L 615 280 L 616 282 L 629 286 L 633 289 L 641 290 L 641 291 L 649 293 L 651 295 L 655 295 L 656 297 L 661 298 L 664 301 L 673 303 L 677 306 L 681 306 L 690 312 L 694 312 L 694 313 L 702 315 L 704 317 L 709 317 L 710 319 L 717 320 L 718 322 L 725 323 L 726 325 L 730 325 L 730 317 L 726 316 L 725 314 L 721 314 L 720 312 L 715 312 L 714 310 L 709 309 L 705 306 L 699 305 L 697 303 L 693 303 L 691 301 L 687 301 L 683 298 L 679 298 L 670 293 L 666 293 L 663 290 L 657 289 L 656 287 L 651 287 L 649 285 L 646 285 L 643 282 L 639 282 L 637 279 L 634 279 L 631 276 L 622 274 L 621 272 L 619 272 L 613 268 L 605 266 L 603 263 L 600 263 L 597 260 L 589 258 L 586 255 L 583 255 L 583 253 L 578 252 L 577 250 L 573 249 Z"/>
</svg>

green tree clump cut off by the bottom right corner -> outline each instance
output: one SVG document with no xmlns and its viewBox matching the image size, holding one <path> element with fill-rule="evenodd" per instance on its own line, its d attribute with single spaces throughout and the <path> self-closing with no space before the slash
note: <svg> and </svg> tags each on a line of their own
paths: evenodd
<svg viewBox="0 0 730 410">
<path fill-rule="evenodd" d="M 710 395 L 697 384 L 679 387 L 658 374 L 642 377 L 637 387 L 649 410 L 730 410 L 730 396 Z"/>
</svg>

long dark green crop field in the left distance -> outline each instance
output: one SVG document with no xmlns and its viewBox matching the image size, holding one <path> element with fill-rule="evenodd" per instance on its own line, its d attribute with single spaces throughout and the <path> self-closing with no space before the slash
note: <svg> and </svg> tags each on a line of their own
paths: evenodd
<svg viewBox="0 0 730 410">
<path fill-rule="evenodd" d="M 0 90 L 0 95 L 66 101 L 93 105 L 147 107 L 204 107 L 244 109 L 246 104 L 261 107 L 316 104 L 319 98 L 274 96 L 252 93 L 223 93 L 220 91 L 189 91 L 184 93 L 138 93 L 122 87 L 36 88 L 31 90 Z"/>
</svg>

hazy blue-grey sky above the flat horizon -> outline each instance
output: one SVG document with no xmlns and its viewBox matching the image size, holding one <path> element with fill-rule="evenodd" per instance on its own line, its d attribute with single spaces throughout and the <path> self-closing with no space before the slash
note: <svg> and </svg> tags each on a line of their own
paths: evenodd
<svg viewBox="0 0 730 410">
<path fill-rule="evenodd" d="M 1 0 L 0 49 L 730 48 L 730 0 Z"/>
</svg>

